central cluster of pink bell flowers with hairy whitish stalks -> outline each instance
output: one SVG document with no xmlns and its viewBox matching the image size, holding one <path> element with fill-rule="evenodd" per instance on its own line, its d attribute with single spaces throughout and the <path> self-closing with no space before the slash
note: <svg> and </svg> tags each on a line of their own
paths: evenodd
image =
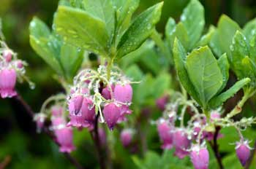
<svg viewBox="0 0 256 169">
<path fill-rule="evenodd" d="M 85 69 L 74 78 L 67 103 L 69 107 L 68 126 L 94 129 L 95 120 L 106 122 L 110 130 L 126 120 L 126 115 L 132 111 L 131 82 L 124 74 L 114 68 L 107 78 L 105 66 L 99 66 L 97 71 Z"/>
</svg>

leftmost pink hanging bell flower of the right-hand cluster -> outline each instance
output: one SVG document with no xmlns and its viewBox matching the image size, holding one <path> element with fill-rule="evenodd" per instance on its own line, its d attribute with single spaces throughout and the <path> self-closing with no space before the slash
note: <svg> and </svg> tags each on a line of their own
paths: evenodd
<svg viewBox="0 0 256 169">
<path fill-rule="evenodd" d="M 173 148 L 173 133 L 172 127 L 164 119 L 159 120 L 157 125 L 158 135 L 162 141 L 162 149 L 171 149 Z"/>
</svg>

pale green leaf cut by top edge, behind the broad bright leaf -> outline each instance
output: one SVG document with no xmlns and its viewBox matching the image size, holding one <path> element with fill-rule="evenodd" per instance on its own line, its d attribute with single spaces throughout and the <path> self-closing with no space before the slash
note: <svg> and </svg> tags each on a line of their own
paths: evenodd
<svg viewBox="0 0 256 169">
<path fill-rule="evenodd" d="M 83 0 L 83 5 L 86 12 L 89 12 L 94 17 L 98 17 L 105 23 L 108 35 L 111 36 L 115 24 L 115 10 L 112 2 L 110 0 Z"/>
</svg>

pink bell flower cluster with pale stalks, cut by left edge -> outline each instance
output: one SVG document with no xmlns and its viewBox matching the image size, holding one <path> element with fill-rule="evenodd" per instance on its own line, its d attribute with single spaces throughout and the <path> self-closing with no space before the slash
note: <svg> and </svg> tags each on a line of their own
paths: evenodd
<svg viewBox="0 0 256 169">
<path fill-rule="evenodd" d="M 12 98 L 17 95 L 15 84 L 17 79 L 22 81 L 26 79 L 26 63 L 18 60 L 16 54 L 10 50 L 4 42 L 1 42 L 0 48 L 0 95 L 1 98 Z"/>
</svg>

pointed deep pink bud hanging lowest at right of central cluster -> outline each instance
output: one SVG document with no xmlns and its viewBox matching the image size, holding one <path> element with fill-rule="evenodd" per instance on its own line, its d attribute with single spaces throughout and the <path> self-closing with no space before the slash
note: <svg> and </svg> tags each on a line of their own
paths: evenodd
<svg viewBox="0 0 256 169">
<path fill-rule="evenodd" d="M 108 103 L 104 106 L 103 114 L 110 130 L 118 122 L 118 118 L 121 116 L 121 109 L 116 105 L 116 103 Z"/>
</svg>

